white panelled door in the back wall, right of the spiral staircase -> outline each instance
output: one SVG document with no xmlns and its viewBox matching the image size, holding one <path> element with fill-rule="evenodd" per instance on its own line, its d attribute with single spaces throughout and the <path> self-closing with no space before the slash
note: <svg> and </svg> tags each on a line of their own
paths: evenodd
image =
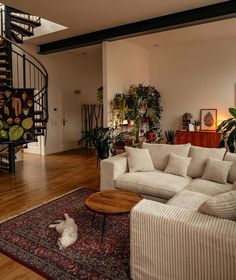
<svg viewBox="0 0 236 280">
<path fill-rule="evenodd" d="M 62 91 L 61 106 L 61 151 L 77 149 L 82 127 L 80 95 L 74 91 Z"/>
</svg>

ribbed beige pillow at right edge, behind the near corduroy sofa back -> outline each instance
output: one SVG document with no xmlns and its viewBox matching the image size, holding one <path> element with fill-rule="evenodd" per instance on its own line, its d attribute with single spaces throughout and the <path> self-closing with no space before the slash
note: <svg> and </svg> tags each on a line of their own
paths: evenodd
<svg viewBox="0 0 236 280">
<path fill-rule="evenodd" d="M 224 219 L 236 220 L 236 191 L 211 197 L 198 208 L 198 211 Z"/>
</svg>

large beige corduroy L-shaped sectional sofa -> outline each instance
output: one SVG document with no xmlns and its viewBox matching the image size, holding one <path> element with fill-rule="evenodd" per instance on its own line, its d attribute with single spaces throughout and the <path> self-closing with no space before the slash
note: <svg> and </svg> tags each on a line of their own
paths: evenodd
<svg viewBox="0 0 236 280">
<path fill-rule="evenodd" d="M 153 170 L 129 172 L 125 153 L 101 161 L 101 190 L 120 188 L 145 198 L 131 211 L 132 279 L 236 279 L 236 222 L 199 212 L 224 194 L 232 193 L 235 203 L 236 154 L 190 144 L 145 143 L 143 148 Z M 169 169 L 173 154 L 177 162 L 190 158 L 184 176 L 175 175 L 181 166 Z M 230 207 L 226 212 L 232 214 Z"/>
</svg>

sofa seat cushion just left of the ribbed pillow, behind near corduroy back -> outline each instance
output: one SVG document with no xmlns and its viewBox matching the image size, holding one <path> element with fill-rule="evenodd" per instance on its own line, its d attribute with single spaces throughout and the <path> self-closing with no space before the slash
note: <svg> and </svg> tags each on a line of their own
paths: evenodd
<svg viewBox="0 0 236 280">
<path fill-rule="evenodd" d="M 180 208 L 197 210 L 202 203 L 209 198 L 211 198 L 211 196 L 203 193 L 183 190 L 172 197 L 166 204 Z"/>
</svg>

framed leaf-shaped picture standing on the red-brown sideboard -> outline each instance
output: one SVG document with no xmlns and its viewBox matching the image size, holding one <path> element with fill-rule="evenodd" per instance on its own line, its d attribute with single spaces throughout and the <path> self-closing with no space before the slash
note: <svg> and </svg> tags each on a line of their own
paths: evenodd
<svg viewBox="0 0 236 280">
<path fill-rule="evenodd" d="M 217 109 L 201 109 L 201 130 L 214 131 L 217 128 Z"/>
</svg>

